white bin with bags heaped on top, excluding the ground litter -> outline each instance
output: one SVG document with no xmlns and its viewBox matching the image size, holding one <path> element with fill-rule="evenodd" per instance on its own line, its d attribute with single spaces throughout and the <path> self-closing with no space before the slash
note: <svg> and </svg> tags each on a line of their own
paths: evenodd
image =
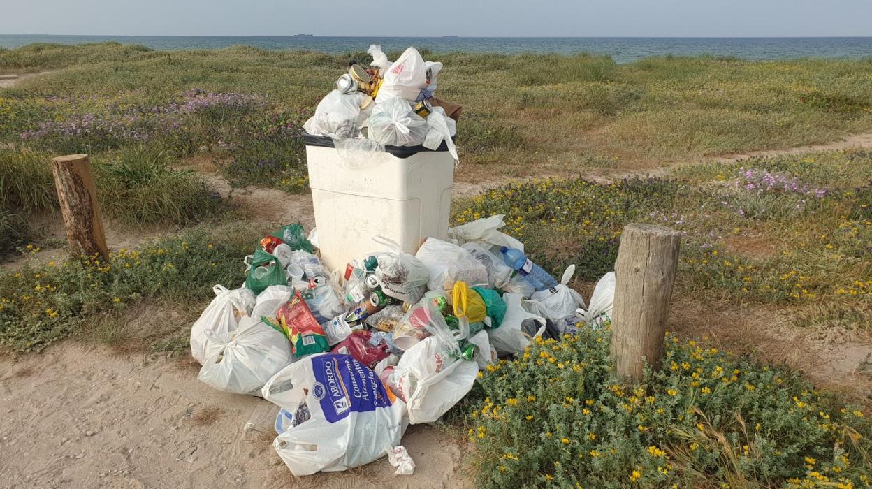
<svg viewBox="0 0 872 489">
<path fill-rule="evenodd" d="M 445 239 L 448 231 L 462 108 L 434 97 L 441 63 L 425 62 L 414 48 L 394 62 L 378 45 L 369 52 L 371 67 L 352 63 L 304 126 L 329 268 L 371 251 L 374 236 L 414 252 L 427 236 Z"/>
</svg>

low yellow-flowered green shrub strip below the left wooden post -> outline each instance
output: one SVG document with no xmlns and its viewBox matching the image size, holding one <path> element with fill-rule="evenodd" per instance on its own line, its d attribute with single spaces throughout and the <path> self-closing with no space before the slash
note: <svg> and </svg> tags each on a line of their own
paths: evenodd
<svg viewBox="0 0 872 489">
<path fill-rule="evenodd" d="M 109 261 L 72 258 L 0 269 L 0 346 L 41 350 L 94 315 L 144 299 L 208 299 L 216 283 L 242 282 L 240 259 L 255 246 L 258 230 L 194 228 L 139 248 L 121 249 Z"/>
</svg>

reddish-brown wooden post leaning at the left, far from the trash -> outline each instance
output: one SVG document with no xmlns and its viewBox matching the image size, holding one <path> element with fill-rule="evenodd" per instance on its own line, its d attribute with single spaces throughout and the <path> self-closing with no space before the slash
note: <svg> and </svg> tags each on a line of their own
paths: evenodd
<svg viewBox="0 0 872 489">
<path fill-rule="evenodd" d="M 51 159 L 51 173 L 58 189 L 60 212 L 72 255 L 101 255 L 109 259 L 106 234 L 100 219 L 97 189 L 87 154 L 70 154 Z"/>
</svg>

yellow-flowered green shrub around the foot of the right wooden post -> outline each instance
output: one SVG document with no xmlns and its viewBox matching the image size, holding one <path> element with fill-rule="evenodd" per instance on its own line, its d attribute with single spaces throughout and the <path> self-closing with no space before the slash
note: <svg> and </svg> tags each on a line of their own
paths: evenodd
<svg viewBox="0 0 872 489">
<path fill-rule="evenodd" d="M 489 366 L 468 432 L 479 485 L 869 485 L 861 411 L 792 372 L 670 339 L 638 385 L 612 377 L 608 330 Z"/>
</svg>

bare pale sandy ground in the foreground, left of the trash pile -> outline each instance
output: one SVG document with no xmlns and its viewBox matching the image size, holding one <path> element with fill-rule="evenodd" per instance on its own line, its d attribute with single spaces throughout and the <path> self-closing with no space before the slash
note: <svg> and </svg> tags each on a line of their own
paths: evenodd
<svg viewBox="0 0 872 489">
<path fill-rule="evenodd" d="M 278 408 L 215 391 L 198 369 L 73 341 L 0 360 L 0 486 L 470 486 L 463 448 L 422 425 L 403 438 L 418 465 L 412 476 L 394 475 L 383 458 L 296 479 L 271 445 Z"/>
</svg>

